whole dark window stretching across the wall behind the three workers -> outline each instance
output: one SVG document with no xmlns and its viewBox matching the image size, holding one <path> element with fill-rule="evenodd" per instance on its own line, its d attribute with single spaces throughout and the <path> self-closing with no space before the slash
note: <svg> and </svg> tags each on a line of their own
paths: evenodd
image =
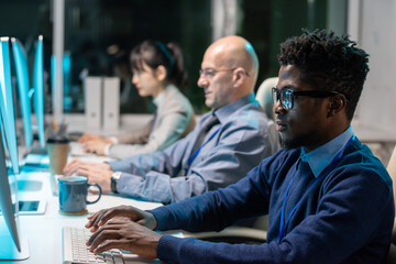
<svg viewBox="0 0 396 264">
<path fill-rule="evenodd" d="M 53 6 L 57 0 L 12 0 L 1 3 L 0 34 L 18 37 L 33 62 L 34 41 L 44 35 L 44 79 L 48 96 L 45 111 L 52 112 L 51 55 L 53 54 Z M 212 37 L 234 31 L 248 38 L 260 58 L 258 85 L 276 76 L 279 43 L 298 35 L 301 28 L 331 28 L 346 32 L 343 0 L 66 0 L 64 50 L 70 58 L 65 78 L 64 112 L 84 113 L 82 79 L 86 75 L 123 78 L 121 113 L 153 111 L 150 98 L 141 98 L 129 82 L 123 65 L 138 43 L 160 40 L 178 42 L 184 52 L 189 85 L 184 94 L 197 113 L 208 109 L 197 87 L 198 69 Z M 336 9 L 334 9 L 336 7 Z M 337 10 L 337 12 L 332 11 Z M 220 21 L 220 22 L 219 22 Z M 226 26 L 227 25 L 227 26 Z M 231 26 L 232 25 L 232 26 Z M 227 28 L 227 29 L 226 29 Z M 226 30 L 223 30 L 226 29 Z M 123 55 L 123 56 L 122 56 Z"/>
</svg>

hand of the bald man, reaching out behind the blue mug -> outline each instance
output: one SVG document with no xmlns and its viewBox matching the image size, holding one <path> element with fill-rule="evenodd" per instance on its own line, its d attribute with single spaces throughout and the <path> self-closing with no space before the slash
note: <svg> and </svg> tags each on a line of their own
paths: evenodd
<svg viewBox="0 0 396 264">
<path fill-rule="evenodd" d="M 64 175 L 78 175 L 88 178 L 89 184 L 99 184 L 102 193 L 111 191 L 111 174 L 113 172 L 107 163 L 92 163 L 78 158 L 72 160 L 64 168 Z"/>
</svg>

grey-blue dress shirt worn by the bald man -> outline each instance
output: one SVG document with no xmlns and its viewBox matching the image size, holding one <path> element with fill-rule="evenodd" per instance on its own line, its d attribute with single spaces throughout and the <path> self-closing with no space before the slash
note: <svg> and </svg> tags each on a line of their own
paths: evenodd
<svg viewBox="0 0 396 264">
<path fill-rule="evenodd" d="M 118 191 L 163 204 L 185 200 L 238 182 L 279 148 L 274 122 L 252 92 L 216 110 L 220 123 L 209 131 L 188 166 L 196 138 L 212 114 L 204 114 L 193 132 L 164 151 L 110 162 L 112 170 L 123 172 Z"/>
</svg>

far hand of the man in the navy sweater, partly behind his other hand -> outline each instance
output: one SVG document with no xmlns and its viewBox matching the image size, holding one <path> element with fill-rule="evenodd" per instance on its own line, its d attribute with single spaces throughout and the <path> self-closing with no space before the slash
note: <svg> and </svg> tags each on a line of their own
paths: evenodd
<svg viewBox="0 0 396 264">
<path fill-rule="evenodd" d="M 107 221 L 113 218 L 127 218 L 139 224 L 142 224 L 151 230 L 157 226 L 156 219 L 153 213 L 143 211 L 132 206 L 118 206 L 109 209 L 102 209 L 88 217 L 86 228 L 95 232 L 99 227 L 105 226 Z"/>
</svg>

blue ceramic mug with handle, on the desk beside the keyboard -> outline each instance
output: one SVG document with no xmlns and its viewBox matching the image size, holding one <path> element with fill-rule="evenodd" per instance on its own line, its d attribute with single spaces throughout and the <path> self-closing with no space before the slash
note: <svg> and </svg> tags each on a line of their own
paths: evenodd
<svg viewBox="0 0 396 264">
<path fill-rule="evenodd" d="M 88 188 L 96 186 L 99 189 L 98 198 L 87 200 Z M 87 213 L 87 205 L 97 202 L 101 197 L 101 188 L 98 184 L 88 184 L 82 176 L 62 176 L 58 178 L 59 210 L 62 213 L 80 216 Z"/>
</svg>

